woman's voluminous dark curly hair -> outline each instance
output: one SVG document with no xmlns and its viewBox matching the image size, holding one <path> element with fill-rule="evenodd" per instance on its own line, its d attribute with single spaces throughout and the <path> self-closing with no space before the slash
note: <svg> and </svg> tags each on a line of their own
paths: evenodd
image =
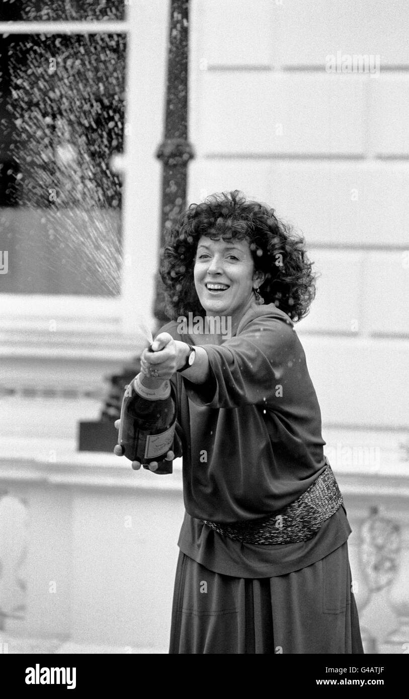
<svg viewBox="0 0 409 699">
<path fill-rule="evenodd" d="M 265 274 L 260 285 L 264 303 L 275 303 L 294 321 L 308 314 L 315 297 L 313 262 L 307 257 L 303 236 L 275 217 L 274 209 L 247 201 L 243 192 L 211 194 L 190 204 L 166 232 L 160 275 L 165 287 L 166 315 L 171 319 L 190 312 L 204 316 L 194 287 L 194 259 L 201 236 L 215 240 L 245 238 L 254 268 Z"/>
</svg>

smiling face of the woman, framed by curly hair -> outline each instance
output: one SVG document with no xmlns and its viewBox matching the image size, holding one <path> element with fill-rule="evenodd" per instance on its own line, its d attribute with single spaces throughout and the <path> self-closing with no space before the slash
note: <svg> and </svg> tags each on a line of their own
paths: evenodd
<svg viewBox="0 0 409 699">
<path fill-rule="evenodd" d="M 253 303 L 253 288 L 262 281 L 263 274 L 254 273 L 247 240 L 201 236 L 194 262 L 194 286 L 208 315 L 238 319 Z"/>
</svg>

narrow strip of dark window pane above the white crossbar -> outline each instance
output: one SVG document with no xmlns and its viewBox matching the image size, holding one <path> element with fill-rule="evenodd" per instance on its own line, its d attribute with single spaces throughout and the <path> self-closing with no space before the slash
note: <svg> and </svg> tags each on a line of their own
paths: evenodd
<svg viewBox="0 0 409 699">
<path fill-rule="evenodd" d="M 125 0 L 3 0 L 0 20 L 124 20 Z"/>
</svg>

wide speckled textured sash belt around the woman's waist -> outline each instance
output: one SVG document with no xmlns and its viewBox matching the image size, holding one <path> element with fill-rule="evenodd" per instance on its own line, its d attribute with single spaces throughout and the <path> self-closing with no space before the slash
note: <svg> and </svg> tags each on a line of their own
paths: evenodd
<svg viewBox="0 0 409 699">
<path fill-rule="evenodd" d="M 327 456 L 327 468 L 305 493 L 282 510 L 261 519 L 217 524 L 203 519 L 204 524 L 230 539 L 246 544 L 295 544 L 308 541 L 343 504 L 343 497 Z"/>
</svg>

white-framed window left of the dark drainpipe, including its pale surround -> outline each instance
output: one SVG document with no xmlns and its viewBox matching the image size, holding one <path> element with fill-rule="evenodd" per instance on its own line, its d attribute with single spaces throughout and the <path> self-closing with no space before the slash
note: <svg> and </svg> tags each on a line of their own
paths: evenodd
<svg viewBox="0 0 409 699">
<path fill-rule="evenodd" d="M 52 356 L 59 331 L 61 352 L 70 333 L 78 356 L 96 346 L 103 356 L 134 353 L 141 319 L 152 326 L 168 13 L 163 0 L 0 3 L 0 250 L 13 252 L 7 274 L 0 259 L 7 356 Z M 27 79 L 31 122 L 18 103 Z"/>
</svg>

